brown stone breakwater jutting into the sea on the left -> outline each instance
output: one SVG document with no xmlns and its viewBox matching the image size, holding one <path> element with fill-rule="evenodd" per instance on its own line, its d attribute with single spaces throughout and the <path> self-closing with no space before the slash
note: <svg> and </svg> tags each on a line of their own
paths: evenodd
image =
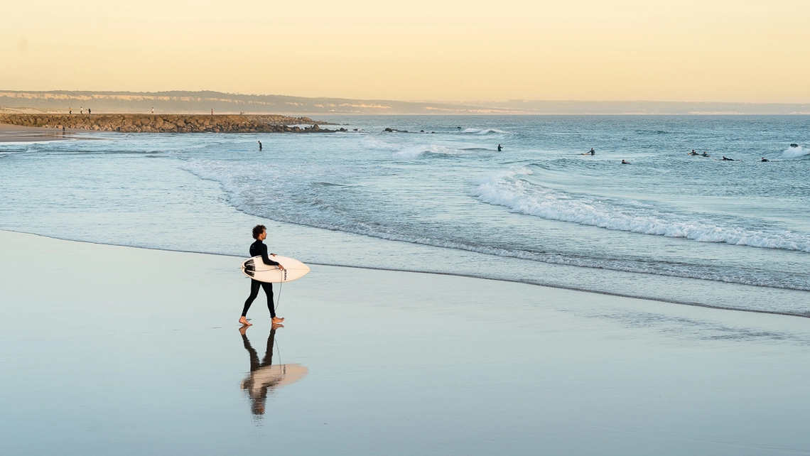
<svg viewBox="0 0 810 456">
<path fill-rule="evenodd" d="M 126 133 L 333 133 L 309 117 L 197 114 L 0 114 L 0 123 Z M 323 123 L 323 122 L 322 122 Z M 311 125 L 311 126 L 290 126 Z"/>
</svg>

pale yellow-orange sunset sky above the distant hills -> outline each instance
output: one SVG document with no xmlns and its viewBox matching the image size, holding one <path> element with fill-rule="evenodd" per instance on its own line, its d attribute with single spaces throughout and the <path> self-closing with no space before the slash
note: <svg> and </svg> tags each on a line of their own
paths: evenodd
<svg viewBox="0 0 810 456">
<path fill-rule="evenodd" d="M 810 103 L 810 0 L 4 3 L 0 90 Z"/>
</svg>

